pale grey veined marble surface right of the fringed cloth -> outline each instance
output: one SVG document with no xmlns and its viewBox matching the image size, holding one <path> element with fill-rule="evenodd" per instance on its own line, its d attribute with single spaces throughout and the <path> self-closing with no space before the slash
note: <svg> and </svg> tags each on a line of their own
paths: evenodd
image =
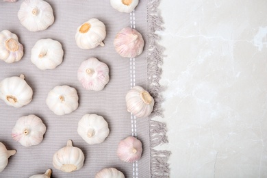
<svg viewBox="0 0 267 178">
<path fill-rule="evenodd" d="M 267 1 L 162 1 L 170 177 L 267 177 Z"/>
</svg>

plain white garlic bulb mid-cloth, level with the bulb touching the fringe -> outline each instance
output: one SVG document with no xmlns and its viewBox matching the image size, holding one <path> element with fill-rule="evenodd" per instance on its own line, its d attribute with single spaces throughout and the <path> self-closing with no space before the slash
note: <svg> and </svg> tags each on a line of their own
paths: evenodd
<svg viewBox="0 0 267 178">
<path fill-rule="evenodd" d="M 47 95 L 47 106 L 56 115 L 70 114 L 79 106 L 79 97 L 75 88 L 55 86 Z"/>
</svg>

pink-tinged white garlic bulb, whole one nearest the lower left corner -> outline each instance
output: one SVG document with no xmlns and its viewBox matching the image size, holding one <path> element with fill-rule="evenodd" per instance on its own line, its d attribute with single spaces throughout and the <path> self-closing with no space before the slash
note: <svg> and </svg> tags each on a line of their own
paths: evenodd
<svg viewBox="0 0 267 178">
<path fill-rule="evenodd" d="M 42 123 L 42 120 L 38 116 L 30 114 L 16 120 L 11 136 L 24 147 L 30 147 L 42 142 L 46 130 L 47 127 Z"/>
</svg>

